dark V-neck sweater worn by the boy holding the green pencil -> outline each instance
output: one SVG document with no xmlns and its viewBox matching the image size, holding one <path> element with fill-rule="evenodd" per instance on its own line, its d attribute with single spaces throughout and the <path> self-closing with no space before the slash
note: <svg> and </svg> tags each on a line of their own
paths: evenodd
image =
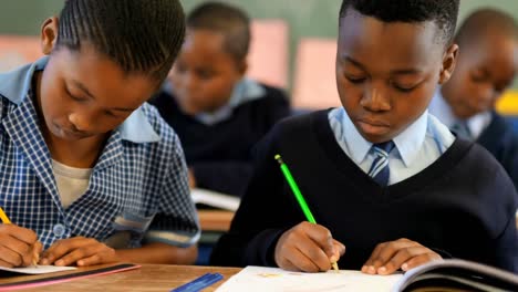
<svg viewBox="0 0 518 292">
<path fill-rule="evenodd" d="M 335 142 L 328 111 L 284 119 L 257 149 L 255 175 L 211 264 L 276 265 L 281 233 L 304 221 L 274 155 L 298 181 L 318 223 L 346 246 L 342 269 L 360 269 L 377 243 L 407 238 L 516 271 L 516 190 L 483 147 L 456 139 L 431 166 L 380 187 Z"/>
</svg>

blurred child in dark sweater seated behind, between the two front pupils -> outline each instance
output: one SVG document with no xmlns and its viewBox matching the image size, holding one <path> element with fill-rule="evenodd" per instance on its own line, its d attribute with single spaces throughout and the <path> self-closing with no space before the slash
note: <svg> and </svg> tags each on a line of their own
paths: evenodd
<svg viewBox="0 0 518 292">
<path fill-rule="evenodd" d="M 278 88 L 245 77 L 250 21 L 237 8 L 207 2 L 187 17 L 187 35 L 168 83 L 152 100 L 180 137 L 190 187 L 240 195 L 251 147 L 289 115 Z"/>
</svg>

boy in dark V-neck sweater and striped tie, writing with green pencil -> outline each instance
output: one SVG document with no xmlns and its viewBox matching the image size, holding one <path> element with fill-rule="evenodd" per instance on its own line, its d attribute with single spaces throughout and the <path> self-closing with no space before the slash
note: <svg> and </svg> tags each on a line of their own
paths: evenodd
<svg viewBox="0 0 518 292">
<path fill-rule="evenodd" d="M 343 107 L 279 123 L 213 264 L 391 274 L 446 257 L 516 271 L 515 188 L 480 146 L 428 115 L 454 67 L 458 1 L 344 0 Z M 274 159 L 290 167 L 304 221 Z M 346 247 L 346 251 L 345 251 Z"/>
</svg>

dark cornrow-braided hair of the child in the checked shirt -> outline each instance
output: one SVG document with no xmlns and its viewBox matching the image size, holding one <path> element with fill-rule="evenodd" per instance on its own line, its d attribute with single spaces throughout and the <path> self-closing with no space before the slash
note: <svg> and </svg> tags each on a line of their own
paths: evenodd
<svg viewBox="0 0 518 292">
<path fill-rule="evenodd" d="M 185 36 L 178 0 L 68 0 L 60 13 L 56 49 L 89 43 L 126 73 L 160 83 Z"/>
</svg>

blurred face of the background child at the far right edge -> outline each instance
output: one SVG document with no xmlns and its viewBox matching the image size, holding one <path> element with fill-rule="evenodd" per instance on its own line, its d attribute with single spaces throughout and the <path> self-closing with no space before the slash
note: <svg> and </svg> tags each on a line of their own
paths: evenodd
<svg viewBox="0 0 518 292">
<path fill-rule="evenodd" d="M 452 80 L 443 96 L 459 118 L 491 111 L 518 71 L 518 43 L 494 33 L 460 48 Z"/>
</svg>

